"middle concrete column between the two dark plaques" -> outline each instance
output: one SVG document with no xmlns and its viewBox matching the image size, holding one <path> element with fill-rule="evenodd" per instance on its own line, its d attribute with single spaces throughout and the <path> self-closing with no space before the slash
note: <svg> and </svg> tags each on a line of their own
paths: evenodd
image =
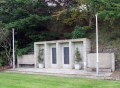
<svg viewBox="0 0 120 88">
<path fill-rule="evenodd" d="M 61 51 L 61 45 L 59 43 L 56 43 L 56 58 L 57 58 L 58 68 L 62 68 L 62 51 Z"/>
</svg>

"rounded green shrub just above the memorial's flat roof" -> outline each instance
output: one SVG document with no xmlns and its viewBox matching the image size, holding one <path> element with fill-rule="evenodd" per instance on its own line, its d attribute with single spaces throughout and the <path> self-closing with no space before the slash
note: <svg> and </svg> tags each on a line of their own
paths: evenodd
<svg viewBox="0 0 120 88">
<path fill-rule="evenodd" d="M 85 30 L 79 25 L 76 25 L 72 32 L 72 38 L 73 39 L 83 38 L 84 35 L 85 35 Z"/>
</svg>

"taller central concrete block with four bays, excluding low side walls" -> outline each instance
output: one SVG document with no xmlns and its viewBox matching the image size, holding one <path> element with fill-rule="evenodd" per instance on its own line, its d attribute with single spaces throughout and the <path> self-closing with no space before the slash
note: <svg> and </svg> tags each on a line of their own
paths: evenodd
<svg viewBox="0 0 120 88">
<path fill-rule="evenodd" d="M 75 50 L 78 47 L 82 57 L 82 68 L 87 68 L 87 54 L 91 51 L 90 40 L 87 38 L 69 39 L 69 40 L 55 40 L 34 43 L 34 59 L 35 68 L 38 67 L 38 51 L 44 49 L 44 64 L 45 68 L 68 68 L 73 69 L 75 63 Z M 56 50 L 56 63 L 52 62 L 52 49 Z M 66 64 L 64 59 L 65 49 L 68 48 L 69 62 Z"/>
</svg>

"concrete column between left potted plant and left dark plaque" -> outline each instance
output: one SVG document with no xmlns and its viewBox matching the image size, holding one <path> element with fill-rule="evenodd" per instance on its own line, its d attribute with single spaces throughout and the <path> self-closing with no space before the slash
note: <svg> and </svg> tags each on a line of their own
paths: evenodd
<svg viewBox="0 0 120 88">
<path fill-rule="evenodd" d="M 49 44 L 45 43 L 45 68 L 50 68 L 50 47 Z"/>
</svg>

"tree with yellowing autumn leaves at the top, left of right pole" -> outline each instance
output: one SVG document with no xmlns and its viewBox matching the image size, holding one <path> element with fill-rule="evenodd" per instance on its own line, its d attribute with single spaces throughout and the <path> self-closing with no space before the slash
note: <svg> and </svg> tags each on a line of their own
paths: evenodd
<svg viewBox="0 0 120 88">
<path fill-rule="evenodd" d="M 81 26 L 92 26 L 93 12 L 90 7 L 90 2 L 87 0 L 64 0 L 61 10 L 58 10 L 53 14 L 57 20 L 62 20 L 63 24 L 69 26 L 75 26 L 76 24 Z M 68 3 L 68 4 L 66 4 Z"/>
</svg>

